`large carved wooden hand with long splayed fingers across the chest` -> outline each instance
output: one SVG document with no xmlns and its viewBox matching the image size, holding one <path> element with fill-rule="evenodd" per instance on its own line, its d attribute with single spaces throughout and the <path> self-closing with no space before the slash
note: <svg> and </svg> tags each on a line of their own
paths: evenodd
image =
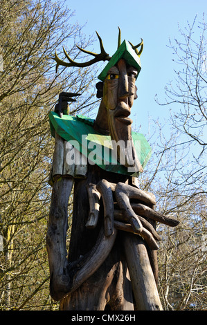
<svg viewBox="0 0 207 325">
<path fill-rule="evenodd" d="M 156 204 L 153 194 L 131 185 L 114 184 L 107 180 L 101 180 L 97 185 L 89 185 L 88 191 L 91 210 L 87 227 L 96 227 L 101 195 L 105 209 L 105 236 L 113 234 L 115 227 L 118 230 L 139 234 L 152 250 L 157 250 L 159 247 L 156 241 L 160 241 L 161 237 L 147 220 L 159 221 L 171 227 L 179 223 L 179 221 L 153 210 Z M 114 203 L 113 192 L 116 203 Z M 131 203 L 130 199 L 133 199 L 134 202 Z"/>
</svg>

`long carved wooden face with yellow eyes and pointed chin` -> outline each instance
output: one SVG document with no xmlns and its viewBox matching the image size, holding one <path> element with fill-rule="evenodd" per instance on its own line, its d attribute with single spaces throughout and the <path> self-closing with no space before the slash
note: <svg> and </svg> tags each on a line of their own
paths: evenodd
<svg viewBox="0 0 207 325">
<path fill-rule="evenodd" d="M 134 149 L 127 140 L 132 140 L 132 120 L 129 118 L 134 99 L 136 99 L 135 77 L 136 68 L 127 66 L 124 59 L 118 61 L 117 66 L 109 69 L 104 82 L 103 102 L 107 109 L 109 131 L 112 140 L 123 140 L 126 150 L 132 154 L 123 152 L 124 156 L 131 156 L 134 160 Z M 122 154 L 119 152 L 119 154 Z M 125 165 L 133 165 L 130 158 Z"/>
</svg>

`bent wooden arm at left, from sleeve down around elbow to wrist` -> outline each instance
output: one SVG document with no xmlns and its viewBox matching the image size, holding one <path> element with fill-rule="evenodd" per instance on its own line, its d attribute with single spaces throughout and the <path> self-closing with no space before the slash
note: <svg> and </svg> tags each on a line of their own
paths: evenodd
<svg viewBox="0 0 207 325">
<path fill-rule="evenodd" d="M 51 297 L 60 300 L 76 290 L 102 265 L 114 245 L 117 231 L 106 237 L 102 229 L 96 245 L 84 257 L 70 262 L 66 251 L 66 230 L 68 229 L 68 203 L 73 177 L 55 180 L 48 219 L 46 246 L 50 267 Z"/>
</svg>

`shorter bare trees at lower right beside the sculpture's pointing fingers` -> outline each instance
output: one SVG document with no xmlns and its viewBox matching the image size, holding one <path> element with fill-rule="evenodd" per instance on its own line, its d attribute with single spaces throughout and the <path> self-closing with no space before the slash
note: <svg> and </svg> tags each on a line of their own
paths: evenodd
<svg viewBox="0 0 207 325">
<path fill-rule="evenodd" d="M 186 144 L 177 145 L 179 131 L 168 136 L 157 125 L 159 137 L 150 143 L 154 152 L 141 187 L 153 192 L 157 209 L 179 220 L 175 229 L 157 225 L 159 293 L 165 310 L 205 310 L 206 295 L 206 187 L 204 177 L 191 169 Z M 160 129 L 159 129 L 160 127 Z M 158 132 L 159 131 L 159 132 Z M 193 165 L 195 167 L 195 164 Z M 193 181 L 194 180 L 194 181 Z"/>
</svg>

